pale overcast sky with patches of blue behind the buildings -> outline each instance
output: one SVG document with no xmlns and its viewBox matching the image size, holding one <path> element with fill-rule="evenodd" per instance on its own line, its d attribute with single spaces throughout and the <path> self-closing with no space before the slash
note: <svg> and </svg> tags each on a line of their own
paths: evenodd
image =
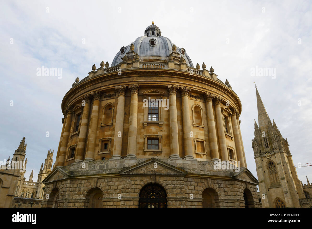
<svg viewBox="0 0 312 229">
<path fill-rule="evenodd" d="M 61 101 L 76 77 L 83 79 L 102 60 L 111 64 L 152 21 L 194 66 L 212 66 L 241 99 L 247 166 L 256 178 L 254 81 L 294 163 L 312 162 L 309 1 L 2 1 L 0 14 L 0 161 L 12 159 L 25 136 L 27 180 L 33 169 L 37 181 L 49 149 L 55 162 Z M 63 77 L 37 76 L 41 66 L 62 68 Z M 276 76 L 252 76 L 253 68 L 273 68 Z M 312 167 L 297 172 L 304 184 L 305 175 L 312 182 Z"/>
</svg>

